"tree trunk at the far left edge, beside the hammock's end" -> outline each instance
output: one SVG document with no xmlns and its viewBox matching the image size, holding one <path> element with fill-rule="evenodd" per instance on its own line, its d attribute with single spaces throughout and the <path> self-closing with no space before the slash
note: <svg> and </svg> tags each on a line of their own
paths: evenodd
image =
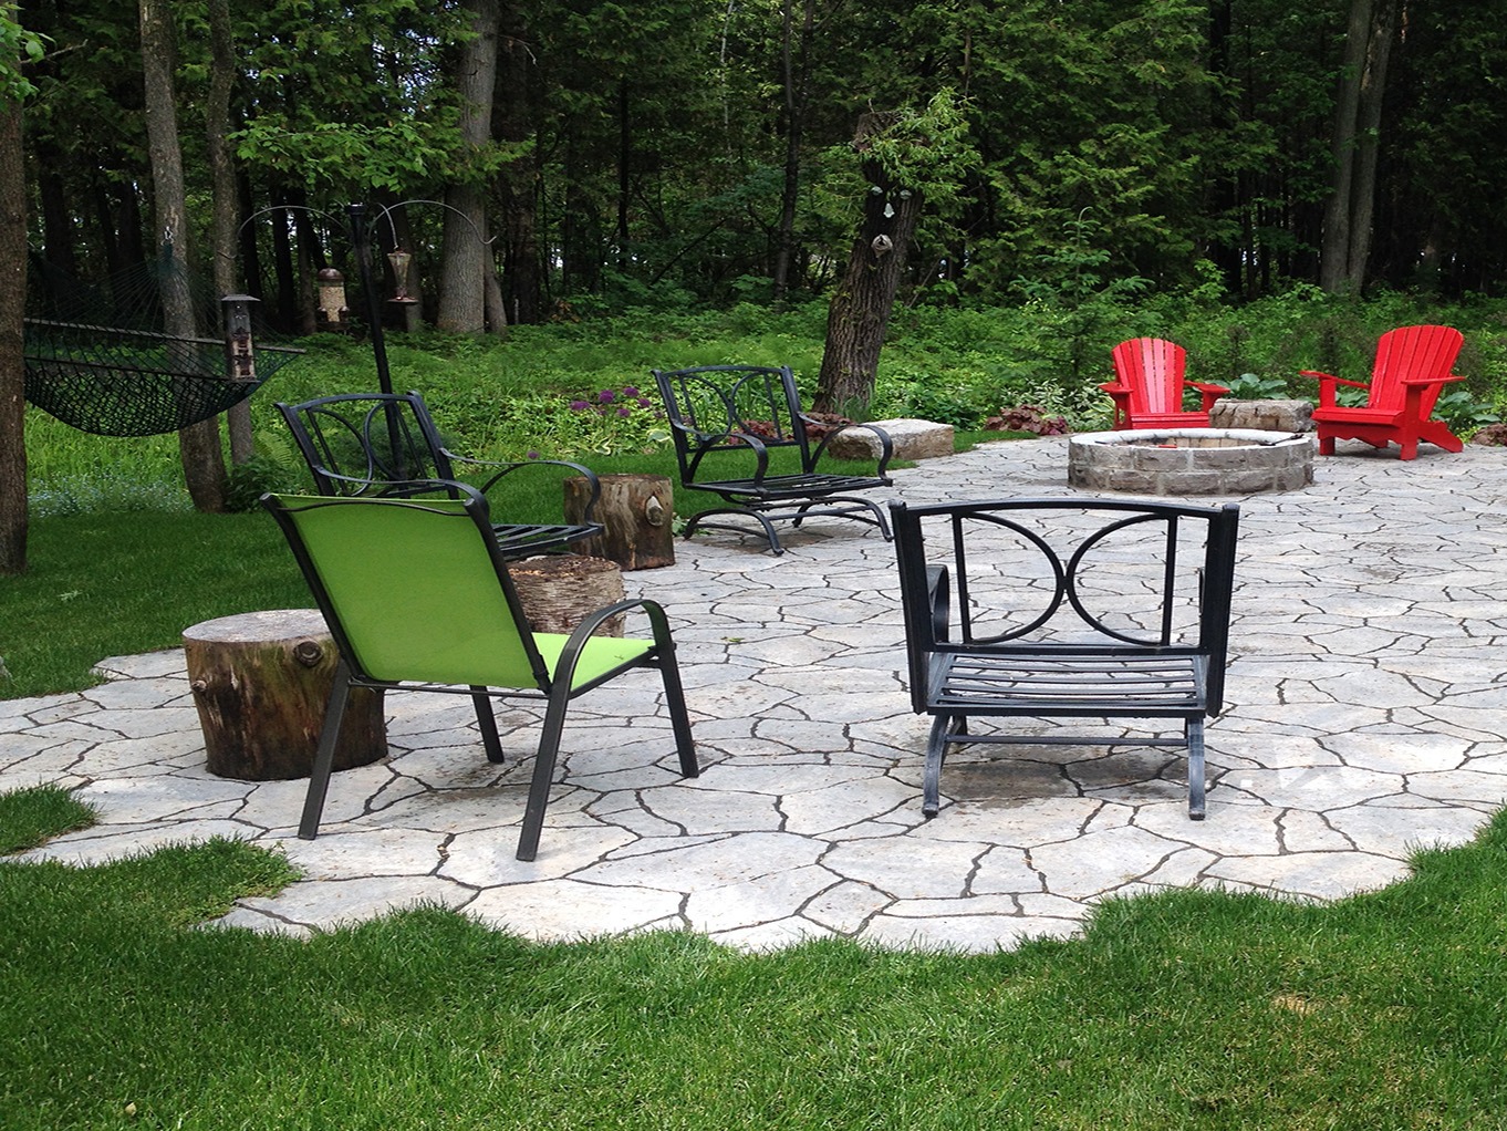
<svg viewBox="0 0 1507 1131">
<path fill-rule="evenodd" d="M 0 98 L 0 573 L 26 569 L 26 161 L 21 103 Z"/>
</svg>

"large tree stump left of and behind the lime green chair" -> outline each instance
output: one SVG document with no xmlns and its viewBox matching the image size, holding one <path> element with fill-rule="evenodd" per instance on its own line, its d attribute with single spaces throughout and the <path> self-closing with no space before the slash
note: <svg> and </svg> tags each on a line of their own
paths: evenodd
<svg viewBox="0 0 1507 1131">
<path fill-rule="evenodd" d="M 306 778 L 339 661 L 318 609 L 244 612 L 184 630 L 188 686 L 211 774 Z M 383 694 L 353 688 L 335 769 L 387 756 Z"/>
</svg>

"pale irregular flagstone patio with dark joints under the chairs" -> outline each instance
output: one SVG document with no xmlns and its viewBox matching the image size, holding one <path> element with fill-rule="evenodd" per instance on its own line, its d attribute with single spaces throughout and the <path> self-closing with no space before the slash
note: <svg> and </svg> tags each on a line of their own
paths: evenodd
<svg viewBox="0 0 1507 1131">
<path fill-rule="evenodd" d="M 1062 437 L 894 478 L 918 502 L 1079 493 Z M 101 825 L 27 858 L 280 846 L 303 879 L 223 921 L 294 935 L 437 902 L 530 938 L 668 927 L 747 949 L 841 935 L 993 950 L 1071 933 L 1106 894 L 1334 899 L 1394 882 L 1415 847 L 1468 840 L 1507 801 L 1504 481 L 1504 449 L 1402 463 L 1341 445 L 1311 486 L 1240 499 L 1201 823 L 1181 759 L 1133 745 L 964 748 L 925 820 L 892 549 L 823 519 L 779 558 L 711 532 L 624 576 L 677 627 L 702 775 L 678 778 L 651 676 L 585 697 L 533 863 L 512 858 L 533 704 L 499 704 L 494 766 L 467 701 L 387 695 L 392 757 L 335 775 L 324 831 L 300 841 L 303 781 L 205 769 L 181 650 L 109 657 L 112 682 L 83 694 L 0 701 L 0 789 L 57 781 L 101 807 Z"/>
</svg>

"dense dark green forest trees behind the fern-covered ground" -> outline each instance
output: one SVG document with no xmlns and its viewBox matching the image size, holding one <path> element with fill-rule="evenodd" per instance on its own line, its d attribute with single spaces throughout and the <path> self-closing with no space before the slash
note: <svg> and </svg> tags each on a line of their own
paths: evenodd
<svg viewBox="0 0 1507 1131">
<path fill-rule="evenodd" d="M 1246 297 L 1338 277 L 1451 296 L 1507 279 L 1492 188 L 1507 160 L 1507 0 L 170 9 L 193 265 L 208 279 L 211 256 L 234 252 L 289 330 L 313 326 L 316 268 L 354 276 L 348 238 L 297 211 L 225 247 L 225 223 L 211 226 L 223 160 L 188 122 L 226 122 L 241 217 L 452 204 L 466 223 L 393 210 L 375 235 L 414 255 L 410 291 L 461 330 L 827 293 L 864 208 L 859 116 L 943 89 L 977 160 L 927 187 L 903 302 L 1014 300 L 1022 280 L 1050 285 L 1084 231 L 1105 279 L 1159 288 L 1207 264 Z M 155 258 L 145 62 L 119 3 L 26 14 L 57 47 L 30 74 L 26 145 L 48 279 L 32 305 L 59 312 L 54 276 L 105 285 Z"/>
</svg>

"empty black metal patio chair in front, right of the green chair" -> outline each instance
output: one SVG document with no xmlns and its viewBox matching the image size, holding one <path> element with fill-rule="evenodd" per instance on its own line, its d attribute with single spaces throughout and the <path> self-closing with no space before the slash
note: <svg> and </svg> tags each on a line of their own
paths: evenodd
<svg viewBox="0 0 1507 1131">
<path fill-rule="evenodd" d="M 954 745 L 1180 746 L 1188 816 L 1201 820 L 1239 514 L 1236 504 L 1129 499 L 892 502 L 910 700 L 933 719 L 922 813 L 937 813 Z M 981 718 L 1171 721 L 1181 734 L 1165 724 L 1153 734 L 975 733 Z"/>
</svg>

